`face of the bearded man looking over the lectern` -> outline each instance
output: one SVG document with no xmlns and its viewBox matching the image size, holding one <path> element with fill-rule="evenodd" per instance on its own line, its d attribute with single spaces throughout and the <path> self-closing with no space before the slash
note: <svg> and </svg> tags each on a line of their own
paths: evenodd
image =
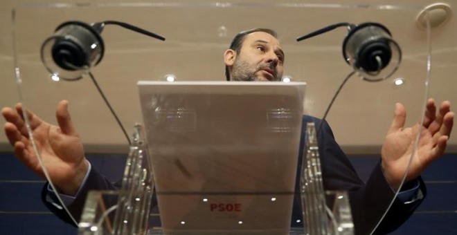
<svg viewBox="0 0 457 235">
<path fill-rule="evenodd" d="M 232 66 L 233 81 L 280 81 L 283 77 L 283 50 L 267 32 L 252 32 L 244 38 L 240 53 L 232 53 L 226 64 Z"/>
</svg>

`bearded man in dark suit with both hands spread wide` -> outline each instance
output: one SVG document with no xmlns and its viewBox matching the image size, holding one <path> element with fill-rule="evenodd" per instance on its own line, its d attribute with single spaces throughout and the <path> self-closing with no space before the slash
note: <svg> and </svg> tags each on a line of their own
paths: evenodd
<svg viewBox="0 0 457 235">
<path fill-rule="evenodd" d="M 285 55 L 274 31 L 255 29 L 240 32 L 233 39 L 230 49 L 224 53 L 226 77 L 228 80 L 237 81 L 278 81 L 283 75 L 284 59 Z M 16 111 L 4 108 L 2 114 L 7 121 L 4 127 L 6 135 L 15 149 L 17 158 L 39 175 L 43 175 L 30 144 L 24 120 L 21 118 L 21 105 L 16 106 Z M 60 194 L 69 196 L 69 211 L 78 219 L 87 191 L 116 187 L 92 169 L 84 157 L 84 149 L 78 132 L 71 122 L 66 101 L 57 105 L 56 117 L 59 126 L 48 124 L 33 113 L 28 113 L 30 128 L 33 130 L 42 160 L 48 166 L 48 174 L 60 190 Z M 420 173 L 430 162 L 444 153 L 453 119 L 454 113 L 450 111 L 449 102 L 442 102 L 437 113 L 433 100 L 428 100 L 424 124 L 422 126 L 415 124 L 411 128 L 404 129 L 406 112 L 402 104 L 397 104 L 393 122 L 382 147 L 382 160 L 375 167 L 366 184 L 359 179 L 348 158 L 335 142 L 328 124 L 323 124 L 318 142 L 324 187 L 349 191 L 357 234 L 369 234 L 381 218 L 395 190 L 400 187 L 412 153 L 415 135 L 421 131 L 420 144 L 406 176 L 406 187 L 401 189 L 402 198 L 395 199 L 393 208 L 375 233 L 383 234 L 396 229 L 418 207 L 426 193 Z M 319 123 L 320 121 L 305 115 L 303 122 Z M 304 139 L 302 134 L 302 146 Z M 299 156 L 302 153 L 303 149 L 300 150 Z M 69 221 L 62 209 L 55 206 L 54 193 L 46 187 L 43 192 L 46 205 L 57 216 Z M 294 202 L 292 216 L 300 218 L 298 200 L 299 198 L 296 198 Z"/>
</svg>

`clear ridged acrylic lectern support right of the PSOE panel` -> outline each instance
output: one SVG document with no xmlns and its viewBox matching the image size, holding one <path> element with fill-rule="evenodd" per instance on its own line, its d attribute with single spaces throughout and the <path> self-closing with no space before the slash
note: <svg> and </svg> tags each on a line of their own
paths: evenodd
<svg viewBox="0 0 457 235">
<path fill-rule="evenodd" d="M 314 122 L 306 123 L 301 166 L 301 204 L 305 234 L 353 235 L 354 223 L 346 191 L 324 191 Z"/>
</svg>

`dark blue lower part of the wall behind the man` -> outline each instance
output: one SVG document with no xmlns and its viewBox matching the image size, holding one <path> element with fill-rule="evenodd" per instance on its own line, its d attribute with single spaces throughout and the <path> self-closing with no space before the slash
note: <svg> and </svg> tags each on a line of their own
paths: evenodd
<svg viewBox="0 0 457 235">
<path fill-rule="evenodd" d="M 367 178 L 377 156 L 349 156 L 361 178 Z M 111 180 L 119 180 L 125 156 L 91 154 L 93 167 Z M 44 180 L 24 167 L 12 153 L 0 153 L 0 234 L 77 234 L 41 202 Z M 400 234 L 457 234 L 457 154 L 433 162 L 422 175 L 428 196 L 413 216 L 396 232 Z"/>
</svg>

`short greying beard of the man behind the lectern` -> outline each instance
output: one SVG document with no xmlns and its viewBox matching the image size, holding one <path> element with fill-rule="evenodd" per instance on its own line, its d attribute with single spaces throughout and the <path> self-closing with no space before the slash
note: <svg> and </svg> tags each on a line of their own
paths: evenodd
<svg viewBox="0 0 457 235">
<path fill-rule="evenodd" d="M 269 68 L 269 70 L 274 71 L 275 81 L 280 81 L 278 78 L 278 73 L 276 72 L 276 66 L 274 66 L 274 64 L 262 63 L 253 68 L 251 64 L 240 58 L 236 58 L 235 62 L 233 62 L 231 80 L 258 82 L 260 81 L 260 78 L 257 77 L 256 73 L 261 71 L 263 68 Z"/>
</svg>

